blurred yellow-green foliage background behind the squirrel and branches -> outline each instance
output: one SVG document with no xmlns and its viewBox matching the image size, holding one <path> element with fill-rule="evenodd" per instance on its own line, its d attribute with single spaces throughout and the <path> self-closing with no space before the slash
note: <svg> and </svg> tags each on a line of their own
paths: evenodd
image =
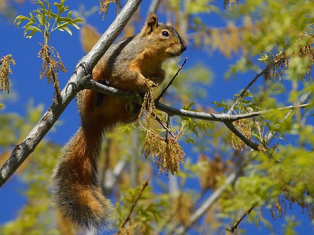
<svg viewBox="0 0 314 235">
<path fill-rule="evenodd" d="M 13 22 L 18 5 L 30 2 L 0 0 L 2 19 Z M 122 5 L 124 3 L 121 1 Z M 92 8 L 80 5 L 71 9 L 75 17 L 85 20 L 79 31 L 85 52 L 102 33 L 89 20 L 99 10 L 98 2 L 93 4 Z M 154 159 L 145 159 L 141 154 L 145 140 L 143 124 L 121 127 L 105 136 L 99 181 L 120 211 L 117 229 L 142 192 L 131 220 L 120 229 L 122 234 L 231 234 L 226 228 L 235 226 L 247 211 L 245 221 L 240 221 L 233 234 L 248 233 L 242 226 L 247 222 L 256 227 L 262 225 L 271 233 L 272 220 L 265 218 L 266 211 L 270 211 L 273 219 L 285 217 L 282 234 L 297 234 L 300 221 L 290 210 L 292 205 L 300 207 L 308 221 L 313 221 L 314 217 L 314 1 L 159 0 L 143 4 L 144 9 L 154 9 L 170 20 L 190 50 L 224 56 L 222 63 L 228 70 L 218 76 L 221 80 L 225 77 L 225 86 L 243 74 L 251 75 L 249 82 L 267 66 L 270 69 L 263 72 L 231 113 L 264 111 L 263 115 L 233 123 L 250 141 L 259 144 L 260 151 L 251 150 L 224 123 L 173 117 L 171 129 L 180 134 L 179 143 L 186 155 L 180 172 L 169 174 L 166 179 L 164 174 L 158 177 Z M 115 14 L 115 10 L 115 6 L 109 7 L 108 14 L 110 11 Z M 143 10 L 135 13 L 122 37 L 138 32 L 137 25 L 141 25 L 148 13 L 141 12 Z M 221 26 L 211 24 L 210 20 L 215 17 L 219 17 Z M 62 34 L 53 40 L 62 40 L 61 37 Z M 62 48 L 56 49 L 62 51 Z M 173 59 L 165 65 L 167 81 L 182 60 L 183 57 Z M 201 63 L 184 68 L 161 101 L 205 113 L 230 110 L 239 94 L 227 93 L 228 98 L 219 101 L 210 96 L 212 71 L 215 71 L 210 60 L 215 58 L 201 58 Z M 166 83 L 158 87 L 155 94 L 160 94 L 165 86 Z M 225 86 L 214 89 L 226 93 Z M 0 102 L 5 104 L 4 94 L 1 94 Z M 297 107 L 281 109 L 290 105 Z M 26 110 L 26 115 L 5 109 L 0 113 L 1 165 L 10 156 L 12 145 L 23 141 L 44 111 L 43 106 L 34 106 L 31 101 Z M 158 112 L 158 115 L 166 121 L 165 114 Z M 165 135 L 157 121 L 152 120 L 151 127 L 161 136 Z M 62 123 L 54 127 L 58 128 L 62 128 Z M 22 192 L 27 202 L 15 220 L 0 226 L 0 234 L 84 234 L 64 223 L 53 211 L 49 199 L 49 177 L 61 148 L 62 144 L 57 141 L 44 139 L 19 168 L 16 174 L 27 185 Z M 236 175 L 235 179 L 226 186 L 225 180 L 232 174 Z M 148 179 L 149 186 L 143 189 L 142 185 Z M 218 190 L 222 186 L 224 190 Z M 207 206 L 205 202 L 217 191 L 218 198 Z M 204 211 L 198 219 L 195 212 L 201 208 Z"/>
</svg>

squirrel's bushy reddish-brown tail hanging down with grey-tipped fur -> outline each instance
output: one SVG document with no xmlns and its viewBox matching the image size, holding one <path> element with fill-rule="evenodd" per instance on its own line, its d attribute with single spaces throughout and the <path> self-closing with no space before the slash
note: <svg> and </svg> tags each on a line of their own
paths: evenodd
<svg viewBox="0 0 314 235">
<path fill-rule="evenodd" d="M 103 130 L 96 127 L 90 123 L 78 129 L 51 178 L 55 208 L 73 224 L 89 230 L 110 228 L 116 220 L 116 209 L 97 185 Z"/>
</svg>

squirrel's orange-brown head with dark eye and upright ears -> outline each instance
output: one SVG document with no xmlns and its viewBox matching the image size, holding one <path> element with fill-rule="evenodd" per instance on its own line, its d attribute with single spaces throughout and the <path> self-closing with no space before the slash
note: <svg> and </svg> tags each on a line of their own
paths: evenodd
<svg viewBox="0 0 314 235">
<path fill-rule="evenodd" d="M 151 14 L 140 35 L 149 39 L 152 46 L 156 45 L 157 54 L 164 59 L 179 56 L 186 50 L 186 45 L 180 34 L 170 23 L 158 23 L 158 17 Z"/>
</svg>

